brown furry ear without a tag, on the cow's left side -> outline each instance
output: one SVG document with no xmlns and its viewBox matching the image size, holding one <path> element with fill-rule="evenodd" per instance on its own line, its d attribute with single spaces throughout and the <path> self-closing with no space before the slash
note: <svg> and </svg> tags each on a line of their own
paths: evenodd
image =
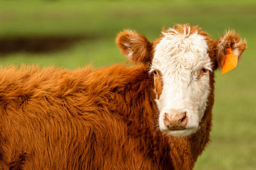
<svg viewBox="0 0 256 170">
<path fill-rule="evenodd" d="M 135 31 L 124 30 L 120 32 L 116 38 L 116 45 L 132 62 L 150 64 L 152 60 L 152 43 Z"/>
</svg>

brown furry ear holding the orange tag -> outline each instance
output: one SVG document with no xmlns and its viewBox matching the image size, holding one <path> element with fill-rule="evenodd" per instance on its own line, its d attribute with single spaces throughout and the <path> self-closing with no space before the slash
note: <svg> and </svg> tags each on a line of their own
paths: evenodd
<svg viewBox="0 0 256 170">
<path fill-rule="evenodd" d="M 216 69 L 223 67 L 227 57 L 228 51 L 232 50 L 232 53 L 237 55 L 238 60 L 241 59 L 241 55 L 246 49 L 246 40 L 242 40 L 239 34 L 235 31 L 226 31 L 215 44 L 215 61 Z"/>
</svg>

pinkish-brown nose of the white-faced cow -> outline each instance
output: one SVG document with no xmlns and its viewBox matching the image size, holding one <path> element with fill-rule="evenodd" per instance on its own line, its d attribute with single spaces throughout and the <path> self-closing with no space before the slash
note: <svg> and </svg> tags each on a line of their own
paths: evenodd
<svg viewBox="0 0 256 170">
<path fill-rule="evenodd" d="M 171 109 L 169 113 L 164 113 L 164 125 L 169 130 L 185 129 L 188 123 L 187 112 L 180 113 L 177 110 Z"/>
</svg>

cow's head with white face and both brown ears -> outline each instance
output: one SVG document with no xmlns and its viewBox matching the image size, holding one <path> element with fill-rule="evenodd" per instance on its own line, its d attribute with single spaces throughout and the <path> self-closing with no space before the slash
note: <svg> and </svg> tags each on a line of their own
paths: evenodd
<svg viewBox="0 0 256 170">
<path fill-rule="evenodd" d="M 118 34 L 116 44 L 129 60 L 147 65 L 148 73 L 154 74 L 159 129 L 172 136 L 188 136 L 200 128 L 213 91 L 214 71 L 223 66 L 227 48 L 239 58 L 246 48 L 235 32 L 213 41 L 188 24 L 163 30 L 152 43 L 125 30 Z"/>
</svg>

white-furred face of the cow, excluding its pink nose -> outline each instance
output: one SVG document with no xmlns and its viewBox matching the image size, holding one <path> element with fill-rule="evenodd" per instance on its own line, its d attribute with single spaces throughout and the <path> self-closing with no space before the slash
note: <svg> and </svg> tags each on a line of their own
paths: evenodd
<svg viewBox="0 0 256 170">
<path fill-rule="evenodd" d="M 170 32 L 169 32 L 170 31 Z M 156 45 L 151 71 L 159 70 L 163 90 L 156 97 L 159 129 L 172 136 L 188 136 L 198 130 L 210 92 L 211 59 L 205 37 L 169 29 Z M 203 69 L 204 68 L 204 69 Z M 206 71 L 205 71 L 206 70 Z M 184 129 L 170 129 L 164 123 L 165 113 L 186 113 Z"/>
</svg>

